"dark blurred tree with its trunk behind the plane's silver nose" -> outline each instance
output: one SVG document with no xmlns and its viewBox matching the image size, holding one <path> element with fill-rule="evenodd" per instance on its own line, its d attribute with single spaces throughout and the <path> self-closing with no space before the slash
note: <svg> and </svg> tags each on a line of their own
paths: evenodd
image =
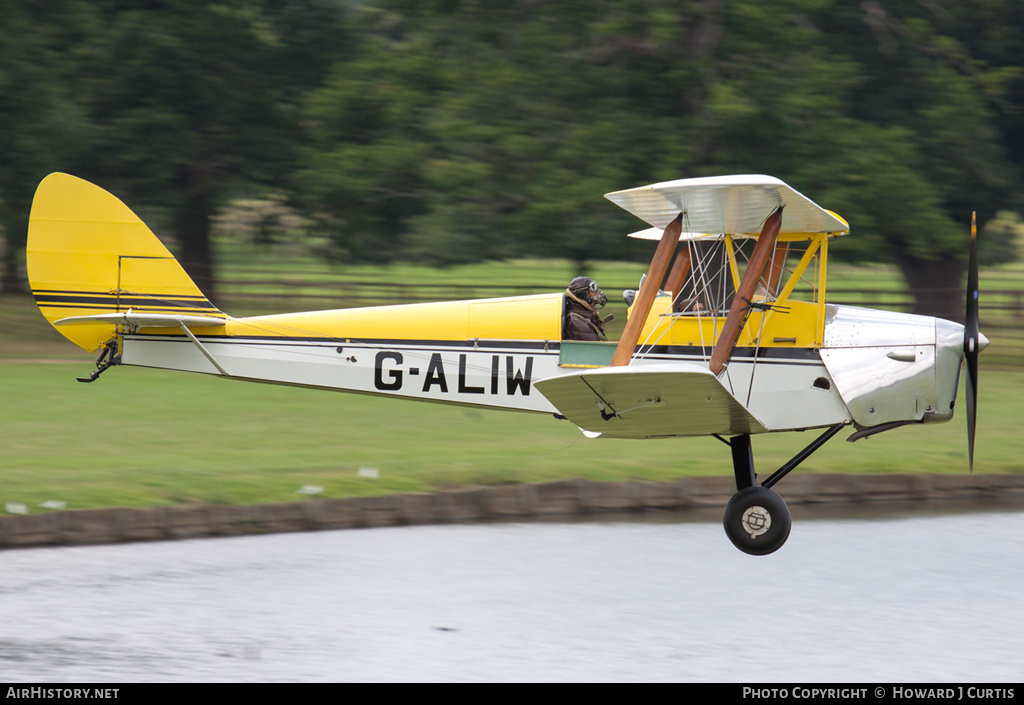
<svg viewBox="0 0 1024 705">
<path fill-rule="evenodd" d="M 842 171 L 825 190 L 850 204 L 858 238 L 837 249 L 895 261 L 916 313 L 963 319 L 971 212 L 983 225 L 1020 208 L 1024 12 L 1001 0 L 865 1 L 834 3 L 815 23 L 861 77 L 844 98 L 859 127 L 835 133 Z M 985 246 L 1012 252 L 1002 236 Z"/>
</svg>

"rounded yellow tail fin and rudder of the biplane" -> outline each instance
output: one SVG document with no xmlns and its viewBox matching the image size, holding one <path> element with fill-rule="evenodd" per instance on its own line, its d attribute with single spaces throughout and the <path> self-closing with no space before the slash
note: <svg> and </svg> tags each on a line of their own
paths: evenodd
<svg viewBox="0 0 1024 705">
<path fill-rule="evenodd" d="M 115 314 L 220 312 L 135 213 L 97 185 L 68 174 L 39 184 L 29 217 L 29 285 L 46 320 Z M 93 352 L 116 324 L 57 327 Z"/>
</svg>

